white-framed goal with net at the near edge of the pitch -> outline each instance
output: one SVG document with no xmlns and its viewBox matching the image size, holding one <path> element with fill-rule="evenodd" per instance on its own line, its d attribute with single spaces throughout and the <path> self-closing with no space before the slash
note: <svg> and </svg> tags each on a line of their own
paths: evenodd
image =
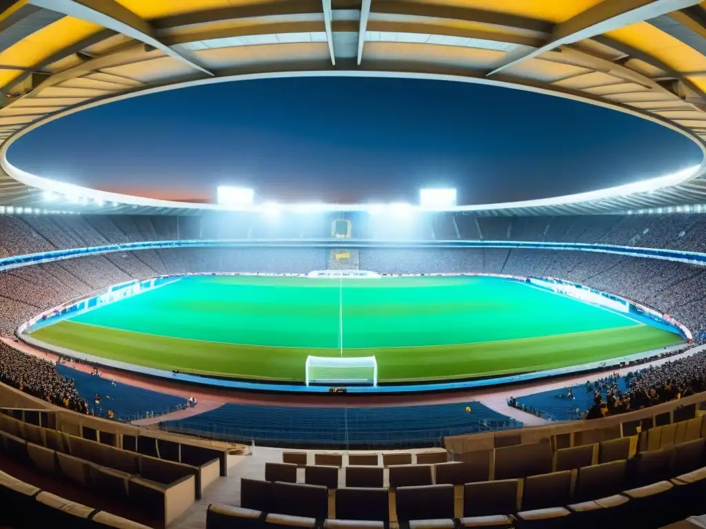
<svg viewBox="0 0 706 529">
<path fill-rule="evenodd" d="M 374 356 L 306 358 L 306 385 L 378 385 L 378 363 Z"/>
</svg>

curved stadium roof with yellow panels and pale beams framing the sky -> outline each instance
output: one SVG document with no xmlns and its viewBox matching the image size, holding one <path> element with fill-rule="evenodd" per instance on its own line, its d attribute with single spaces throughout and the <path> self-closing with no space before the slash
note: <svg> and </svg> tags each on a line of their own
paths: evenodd
<svg viewBox="0 0 706 529">
<path fill-rule="evenodd" d="M 28 130 L 97 104 L 287 75 L 397 75 L 542 92 L 661 123 L 706 153 L 706 2 L 20 0 L 0 6 L 6 6 L 0 14 L 4 206 L 106 212 L 100 204 L 116 202 L 112 212 L 218 209 L 83 188 L 61 188 L 49 204 L 38 188 L 52 182 L 13 168 L 5 151 Z M 532 133 L 532 123 L 525 131 Z M 472 210 L 602 213 L 705 197 L 706 162 L 647 187 Z"/>
</svg>

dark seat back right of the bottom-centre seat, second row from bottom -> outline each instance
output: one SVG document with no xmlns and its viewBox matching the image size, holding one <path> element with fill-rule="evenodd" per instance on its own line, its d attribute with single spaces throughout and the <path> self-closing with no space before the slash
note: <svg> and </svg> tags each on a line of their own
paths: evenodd
<svg viewBox="0 0 706 529">
<path fill-rule="evenodd" d="M 400 487 L 395 494 L 397 521 L 453 518 L 453 485 Z"/>
</svg>

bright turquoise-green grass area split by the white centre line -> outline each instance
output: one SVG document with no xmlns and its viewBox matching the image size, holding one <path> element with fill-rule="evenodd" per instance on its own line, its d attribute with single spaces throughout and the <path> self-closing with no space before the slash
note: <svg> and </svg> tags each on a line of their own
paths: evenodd
<svg viewBox="0 0 706 529">
<path fill-rule="evenodd" d="M 335 348 L 339 284 L 311 278 L 191 277 L 73 321 L 182 339 Z M 486 343 L 638 324 L 507 279 L 425 276 L 343 284 L 345 348 Z"/>
</svg>

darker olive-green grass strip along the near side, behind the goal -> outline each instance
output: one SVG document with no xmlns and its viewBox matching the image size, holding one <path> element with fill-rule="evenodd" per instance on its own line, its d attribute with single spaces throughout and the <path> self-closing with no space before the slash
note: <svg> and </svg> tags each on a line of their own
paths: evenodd
<svg viewBox="0 0 706 529">
<path fill-rule="evenodd" d="M 248 379 L 304 380 L 306 356 L 340 354 L 336 348 L 277 348 L 203 342 L 105 329 L 71 321 L 32 334 L 55 346 L 146 367 Z M 609 360 L 681 343 L 681 337 L 650 327 L 558 334 L 453 346 L 369 348 L 381 382 L 485 377 Z M 344 355 L 361 355 L 344 349 Z"/>
</svg>

